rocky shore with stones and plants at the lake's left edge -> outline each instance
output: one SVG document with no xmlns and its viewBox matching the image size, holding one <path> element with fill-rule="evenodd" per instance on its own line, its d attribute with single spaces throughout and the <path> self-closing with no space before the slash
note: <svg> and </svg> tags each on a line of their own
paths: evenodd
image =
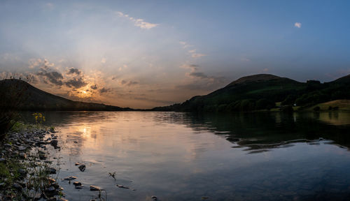
<svg viewBox="0 0 350 201">
<path fill-rule="evenodd" d="M 0 200 L 66 200 L 47 148 L 60 148 L 55 129 L 20 124 L 14 130 L 0 142 Z"/>
</svg>

